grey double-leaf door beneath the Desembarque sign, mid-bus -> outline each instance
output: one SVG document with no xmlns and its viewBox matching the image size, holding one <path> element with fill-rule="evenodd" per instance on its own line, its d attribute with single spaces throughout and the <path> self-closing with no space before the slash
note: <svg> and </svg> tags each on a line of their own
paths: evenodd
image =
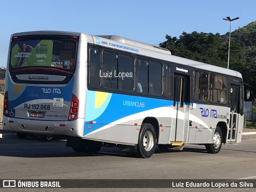
<svg viewBox="0 0 256 192">
<path fill-rule="evenodd" d="M 188 128 L 189 116 L 189 77 L 174 74 L 174 101 L 170 142 L 183 142 L 184 129 Z"/>
</svg>

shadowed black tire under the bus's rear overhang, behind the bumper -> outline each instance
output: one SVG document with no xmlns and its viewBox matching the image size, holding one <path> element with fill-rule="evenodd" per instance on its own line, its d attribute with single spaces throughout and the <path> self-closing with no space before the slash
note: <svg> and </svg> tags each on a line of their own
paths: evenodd
<svg viewBox="0 0 256 192">
<path fill-rule="evenodd" d="M 72 146 L 72 149 L 78 153 L 97 153 L 102 147 L 102 142 L 92 140 L 81 140 L 80 146 Z"/>
</svg>

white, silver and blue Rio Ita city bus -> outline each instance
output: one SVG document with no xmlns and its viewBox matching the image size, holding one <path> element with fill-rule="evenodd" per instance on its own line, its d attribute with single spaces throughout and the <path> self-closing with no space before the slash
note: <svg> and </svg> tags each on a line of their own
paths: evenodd
<svg viewBox="0 0 256 192">
<path fill-rule="evenodd" d="M 3 128 L 19 138 L 67 136 L 76 152 L 116 146 L 142 158 L 185 144 L 218 153 L 241 142 L 243 115 L 234 70 L 120 36 L 11 36 Z"/>
</svg>

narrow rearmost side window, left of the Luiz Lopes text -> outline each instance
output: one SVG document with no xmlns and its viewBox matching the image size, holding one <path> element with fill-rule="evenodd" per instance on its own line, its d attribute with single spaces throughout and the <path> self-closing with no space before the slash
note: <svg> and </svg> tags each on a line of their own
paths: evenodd
<svg viewBox="0 0 256 192">
<path fill-rule="evenodd" d="M 100 50 L 90 49 L 89 82 L 92 88 L 100 88 Z"/>
</svg>

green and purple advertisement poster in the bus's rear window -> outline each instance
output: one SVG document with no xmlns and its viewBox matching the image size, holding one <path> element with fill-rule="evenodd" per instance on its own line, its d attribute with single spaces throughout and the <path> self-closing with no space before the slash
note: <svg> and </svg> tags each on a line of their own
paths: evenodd
<svg viewBox="0 0 256 192">
<path fill-rule="evenodd" d="M 12 67 L 51 66 L 52 40 L 24 40 L 12 43 Z"/>
</svg>

